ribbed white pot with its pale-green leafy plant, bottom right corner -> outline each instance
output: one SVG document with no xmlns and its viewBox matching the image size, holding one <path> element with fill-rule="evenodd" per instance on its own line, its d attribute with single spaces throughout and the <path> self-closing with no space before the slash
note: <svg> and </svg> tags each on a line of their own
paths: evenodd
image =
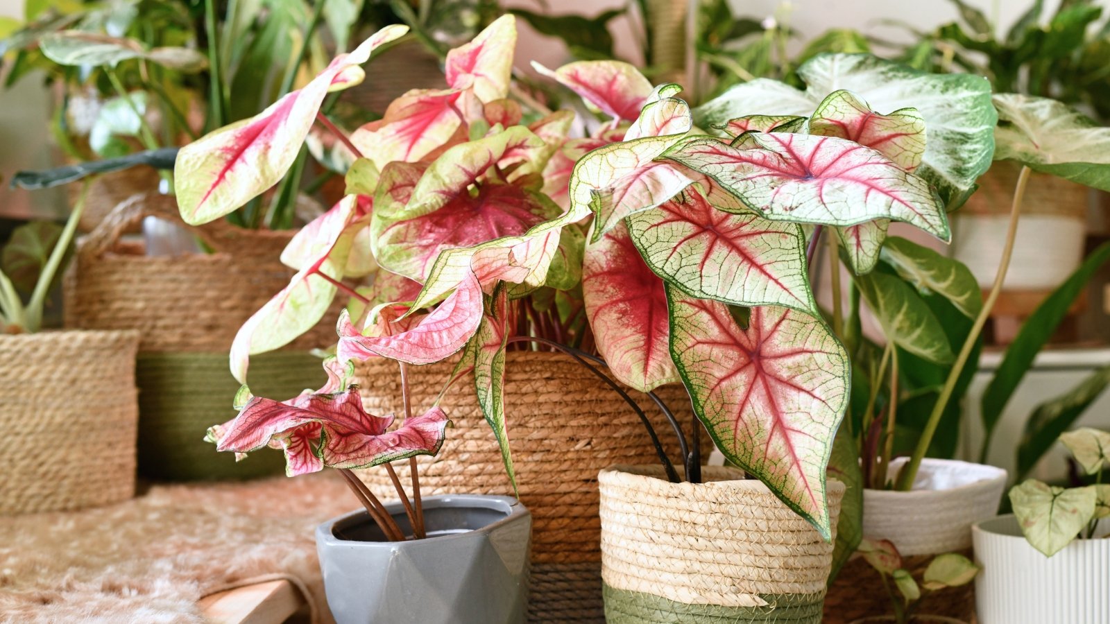
<svg viewBox="0 0 1110 624">
<path fill-rule="evenodd" d="M 1106 588 L 1110 557 L 1110 434 L 1078 429 L 1060 435 L 1082 475 L 1073 487 L 1027 480 L 1010 490 L 1013 514 L 975 525 L 979 622 L 1110 620 Z M 1051 604 L 1036 596 L 1052 595 Z"/>
</svg>

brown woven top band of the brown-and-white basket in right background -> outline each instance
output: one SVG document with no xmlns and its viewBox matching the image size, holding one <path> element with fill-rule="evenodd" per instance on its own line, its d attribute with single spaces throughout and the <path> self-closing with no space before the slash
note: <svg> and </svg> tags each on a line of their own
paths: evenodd
<svg viewBox="0 0 1110 624">
<path fill-rule="evenodd" d="M 1010 213 L 1013 189 L 1018 184 L 1021 167 L 1012 162 L 996 161 L 978 180 L 977 190 L 960 209 L 959 218 L 976 214 L 1006 215 Z M 1087 220 L 1089 190 L 1082 184 L 1031 172 L 1026 184 L 1022 214 L 1049 214 L 1080 221 Z"/>
</svg>

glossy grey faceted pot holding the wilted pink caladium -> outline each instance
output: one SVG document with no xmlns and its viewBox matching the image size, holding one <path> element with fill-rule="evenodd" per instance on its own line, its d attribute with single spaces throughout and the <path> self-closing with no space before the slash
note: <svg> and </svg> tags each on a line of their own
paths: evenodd
<svg viewBox="0 0 1110 624">
<path fill-rule="evenodd" d="M 532 517 L 509 496 L 428 496 L 428 537 L 386 542 L 365 512 L 316 527 L 337 624 L 515 624 L 527 603 Z M 401 503 L 386 509 L 406 534 Z"/>
</svg>

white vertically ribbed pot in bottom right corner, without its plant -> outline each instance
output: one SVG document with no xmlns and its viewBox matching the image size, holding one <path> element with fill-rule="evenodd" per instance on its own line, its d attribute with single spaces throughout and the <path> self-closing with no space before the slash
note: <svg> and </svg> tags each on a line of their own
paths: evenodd
<svg viewBox="0 0 1110 624">
<path fill-rule="evenodd" d="M 1110 624 L 1110 539 L 1076 540 L 1046 557 L 1012 514 L 971 533 L 982 567 L 975 580 L 979 624 Z M 1110 519 L 1102 519 L 1096 535 L 1107 534 Z"/>
</svg>

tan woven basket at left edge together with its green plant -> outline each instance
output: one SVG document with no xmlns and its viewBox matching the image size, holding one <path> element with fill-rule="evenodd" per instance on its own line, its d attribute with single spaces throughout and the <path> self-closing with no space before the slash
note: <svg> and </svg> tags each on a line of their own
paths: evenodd
<svg viewBox="0 0 1110 624">
<path fill-rule="evenodd" d="M 0 514 L 75 511 L 134 495 L 138 333 L 42 326 L 81 209 L 64 228 L 17 228 L 0 254 L 0 417 L 12 432 L 0 443 Z M 60 433 L 78 429 L 95 431 L 95 442 Z M 73 460 L 62 471 L 43 461 L 59 452 Z"/>
</svg>

